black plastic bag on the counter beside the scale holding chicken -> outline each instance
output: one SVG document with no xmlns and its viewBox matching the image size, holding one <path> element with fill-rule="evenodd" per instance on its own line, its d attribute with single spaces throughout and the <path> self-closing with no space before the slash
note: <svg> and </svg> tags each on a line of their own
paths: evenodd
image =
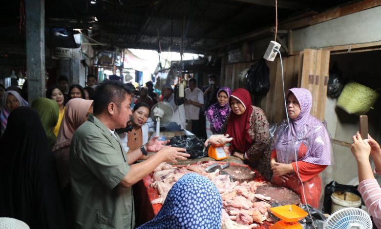
<svg viewBox="0 0 381 229">
<path fill-rule="evenodd" d="M 167 145 L 187 149 L 186 153 L 191 154 L 189 158 L 201 158 L 208 154 L 206 151 L 203 151 L 204 142 L 200 141 L 195 135 L 174 136 L 169 140 Z"/>
</svg>

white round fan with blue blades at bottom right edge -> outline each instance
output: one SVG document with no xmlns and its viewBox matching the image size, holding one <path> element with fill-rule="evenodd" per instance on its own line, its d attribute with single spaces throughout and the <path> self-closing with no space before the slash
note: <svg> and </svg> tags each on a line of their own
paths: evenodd
<svg viewBox="0 0 381 229">
<path fill-rule="evenodd" d="M 372 220 L 364 210 L 345 208 L 328 217 L 323 229 L 372 229 Z"/>
</svg>

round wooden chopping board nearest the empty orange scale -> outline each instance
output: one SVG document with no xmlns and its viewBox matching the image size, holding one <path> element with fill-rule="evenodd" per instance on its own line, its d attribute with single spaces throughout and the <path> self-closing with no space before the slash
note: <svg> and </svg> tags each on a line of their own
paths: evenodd
<svg viewBox="0 0 381 229">
<path fill-rule="evenodd" d="M 255 193 L 262 194 L 264 196 L 270 196 L 272 203 L 279 203 L 281 205 L 300 204 L 300 197 L 294 191 L 273 185 L 259 186 Z"/>
</svg>

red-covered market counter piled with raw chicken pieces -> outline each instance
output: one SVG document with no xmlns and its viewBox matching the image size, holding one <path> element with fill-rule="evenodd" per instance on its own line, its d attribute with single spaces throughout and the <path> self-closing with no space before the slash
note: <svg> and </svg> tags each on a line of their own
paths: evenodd
<svg viewBox="0 0 381 229">
<path fill-rule="evenodd" d="M 205 158 L 204 158 L 205 159 Z M 234 157 L 226 159 L 236 160 Z M 171 186 L 184 174 L 196 172 L 208 177 L 221 193 L 223 200 L 222 224 L 247 225 L 257 228 L 269 228 L 272 219 L 268 213 L 271 200 L 255 190 L 263 185 L 271 185 L 263 176 L 247 165 L 230 163 L 230 167 L 243 168 L 254 179 L 235 181 L 230 175 L 223 175 L 221 171 L 208 173 L 206 168 L 215 163 L 214 161 L 201 161 L 190 165 L 162 164 L 153 173 L 144 177 L 134 187 L 134 200 L 136 212 L 136 225 L 139 226 L 151 220 L 161 209 L 165 197 Z M 218 162 L 225 164 L 225 162 Z M 189 164 L 189 163 L 188 163 Z M 238 171 L 233 169 L 234 171 Z"/>
</svg>

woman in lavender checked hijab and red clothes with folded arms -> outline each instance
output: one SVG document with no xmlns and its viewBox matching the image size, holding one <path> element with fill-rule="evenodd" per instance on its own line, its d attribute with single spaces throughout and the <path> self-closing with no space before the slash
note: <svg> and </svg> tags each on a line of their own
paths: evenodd
<svg viewBox="0 0 381 229">
<path fill-rule="evenodd" d="M 290 128 L 283 121 L 275 135 L 271 156 L 272 182 L 290 188 L 299 194 L 302 203 L 302 186 L 296 175 L 296 159 L 299 176 L 303 181 L 307 203 L 318 208 L 321 194 L 319 173 L 331 164 L 331 141 L 325 126 L 310 115 L 312 95 L 304 88 L 292 88 L 286 93 Z M 296 151 L 296 153 L 295 153 Z"/>
</svg>

